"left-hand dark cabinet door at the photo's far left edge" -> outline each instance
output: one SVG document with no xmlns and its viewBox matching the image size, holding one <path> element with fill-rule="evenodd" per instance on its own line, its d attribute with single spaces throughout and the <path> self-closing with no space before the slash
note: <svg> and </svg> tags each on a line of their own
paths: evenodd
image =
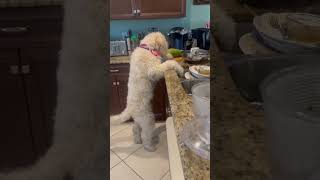
<svg viewBox="0 0 320 180">
<path fill-rule="evenodd" d="M 32 132 L 18 50 L 0 51 L 0 171 L 30 165 L 34 160 Z"/>
</svg>

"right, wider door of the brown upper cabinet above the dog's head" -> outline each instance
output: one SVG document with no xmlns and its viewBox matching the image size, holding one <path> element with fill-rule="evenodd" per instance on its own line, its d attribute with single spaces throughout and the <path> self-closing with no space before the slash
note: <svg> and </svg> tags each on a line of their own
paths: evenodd
<svg viewBox="0 0 320 180">
<path fill-rule="evenodd" d="M 171 18 L 186 15 L 186 0 L 136 0 L 139 18 Z"/>
</svg>

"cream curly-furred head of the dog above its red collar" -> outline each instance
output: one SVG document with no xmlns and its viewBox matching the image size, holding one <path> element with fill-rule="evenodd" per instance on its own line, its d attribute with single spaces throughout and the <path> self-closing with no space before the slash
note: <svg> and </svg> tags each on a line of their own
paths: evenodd
<svg viewBox="0 0 320 180">
<path fill-rule="evenodd" d="M 146 44 L 149 47 L 160 51 L 162 57 L 166 57 L 168 52 L 168 42 L 166 37 L 160 32 L 152 32 L 147 34 L 142 40 L 141 44 Z"/>
</svg>

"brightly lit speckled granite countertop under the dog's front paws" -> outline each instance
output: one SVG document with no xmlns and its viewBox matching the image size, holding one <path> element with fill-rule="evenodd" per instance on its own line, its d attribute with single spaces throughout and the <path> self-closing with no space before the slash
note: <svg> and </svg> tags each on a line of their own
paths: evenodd
<svg viewBox="0 0 320 180">
<path fill-rule="evenodd" d="M 200 158 L 181 142 L 180 134 L 183 126 L 194 117 L 192 99 L 185 93 L 181 80 L 174 70 L 165 73 L 165 80 L 184 177 L 186 180 L 209 180 L 210 161 Z"/>
</svg>

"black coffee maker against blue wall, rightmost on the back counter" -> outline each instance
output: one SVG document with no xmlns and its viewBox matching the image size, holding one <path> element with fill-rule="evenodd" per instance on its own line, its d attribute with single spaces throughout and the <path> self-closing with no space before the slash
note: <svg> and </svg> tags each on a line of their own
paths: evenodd
<svg viewBox="0 0 320 180">
<path fill-rule="evenodd" d="M 210 49 L 210 30 L 208 28 L 192 29 L 192 38 L 197 40 L 197 47 L 200 49 Z"/>
</svg>

